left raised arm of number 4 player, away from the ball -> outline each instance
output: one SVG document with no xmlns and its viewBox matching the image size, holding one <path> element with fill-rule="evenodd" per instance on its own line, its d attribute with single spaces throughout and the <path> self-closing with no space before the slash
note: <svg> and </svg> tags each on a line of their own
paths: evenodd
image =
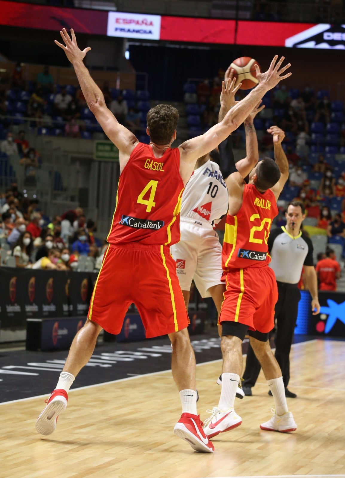
<svg viewBox="0 0 345 478">
<path fill-rule="evenodd" d="M 62 29 L 60 35 L 66 46 L 57 40 L 55 40 L 55 43 L 64 50 L 68 60 L 72 63 L 89 109 L 95 115 L 96 120 L 100 123 L 102 130 L 110 141 L 119 149 L 120 168 L 123 169 L 138 140 L 130 130 L 127 130 L 116 120 L 110 109 L 106 107 L 103 93 L 93 81 L 89 70 L 84 65 L 83 59 L 91 48 L 85 48 L 83 51 L 78 48 L 76 35 L 72 28 L 72 38 L 70 38 L 66 28 Z"/>
</svg>

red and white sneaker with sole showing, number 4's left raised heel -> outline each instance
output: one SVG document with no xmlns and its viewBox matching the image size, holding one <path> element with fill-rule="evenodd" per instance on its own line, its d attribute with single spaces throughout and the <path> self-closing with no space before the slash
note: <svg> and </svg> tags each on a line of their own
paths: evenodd
<svg viewBox="0 0 345 478">
<path fill-rule="evenodd" d="M 53 390 L 50 397 L 45 400 L 46 407 L 36 420 L 36 430 L 41 435 L 50 435 L 56 429 L 58 415 L 67 407 L 68 395 L 63 389 Z"/>
</svg>

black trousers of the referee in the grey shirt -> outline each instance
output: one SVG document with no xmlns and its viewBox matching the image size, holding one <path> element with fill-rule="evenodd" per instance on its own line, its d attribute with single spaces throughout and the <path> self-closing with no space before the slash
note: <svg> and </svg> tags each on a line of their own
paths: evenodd
<svg viewBox="0 0 345 478">
<path fill-rule="evenodd" d="M 288 284 L 286 282 L 277 281 L 277 285 L 278 301 L 274 309 L 275 318 L 277 319 L 275 357 L 281 369 L 284 386 L 286 388 L 290 379 L 289 354 L 297 321 L 300 290 L 298 289 L 297 284 Z M 270 332 L 269 337 L 271 337 L 272 333 L 273 330 Z M 245 362 L 245 373 L 243 374 L 243 385 L 245 387 L 254 387 L 260 369 L 260 363 L 258 359 L 256 359 L 255 353 L 249 344 L 247 359 Z"/>
</svg>

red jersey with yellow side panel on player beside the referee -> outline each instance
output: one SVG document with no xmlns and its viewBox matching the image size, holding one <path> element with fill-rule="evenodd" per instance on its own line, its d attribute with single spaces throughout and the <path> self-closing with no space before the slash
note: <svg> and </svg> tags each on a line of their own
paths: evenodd
<svg viewBox="0 0 345 478">
<path fill-rule="evenodd" d="M 263 267 L 269 264 L 267 239 L 272 220 L 278 215 L 276 198 L 270 189 L 260 193 L 254 184 L 245 185 L 243 204 L 236 216 L 226 217 L 222 266 Z"/>
</svg>

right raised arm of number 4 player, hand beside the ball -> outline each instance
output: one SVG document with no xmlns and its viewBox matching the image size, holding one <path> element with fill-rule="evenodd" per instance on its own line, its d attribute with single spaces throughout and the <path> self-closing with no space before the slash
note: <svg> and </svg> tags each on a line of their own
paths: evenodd
<svg viewBox="0 0 345 478">
<path fill-rule="evenodd" d="M 275 87 L 280 80 L 291 75 L 291 73 L 287 73 L 281 76 L 289 68 L 290 64 L 280 68 L 284 61 L 284 56 L 278 62 L 277 60 L 278 55 L 273 58 L 269 69 L 265 73 L 260 73 L 256 65 L 256 76 L 259 82 L 257 87 L 236 103 L 225 115 L 223 121 L 213 126 L 202 136 L 192 138 L 180 145 L 180 173 L 184 180 L 186 178 L 187 180 L 189 179 L 198 158 L 212 151 L 220 142 L 224 141 L 232 131 L 236 130 L 243 123 L 268 90 Z M 234 83 L 230 83 L 229 80 L 227 85 L 223 84 L 223 89 L 232 88 L 236 92 L 239 86 L 234 89 L 233 85 Z"/>
</svg>

